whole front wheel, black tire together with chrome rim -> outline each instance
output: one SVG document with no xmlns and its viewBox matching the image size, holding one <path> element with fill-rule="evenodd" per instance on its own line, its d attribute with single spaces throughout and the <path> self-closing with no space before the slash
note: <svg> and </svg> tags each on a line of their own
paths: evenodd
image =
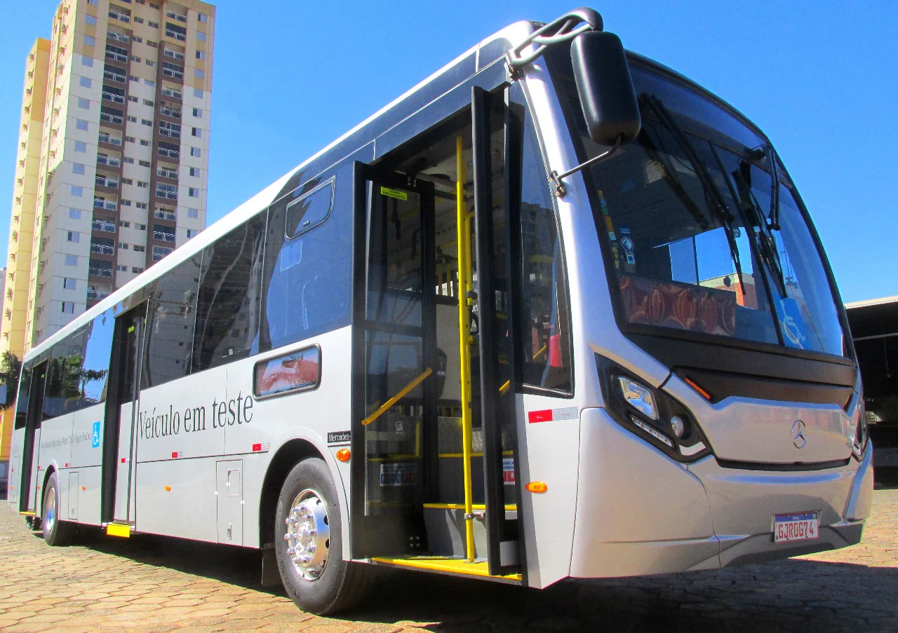
<svg viewBox="0 0 898 633">
<path fill-rule="evenodd" d="M 343 559 L 342 525 L 327 464 L 318 458 L 298 462 L 277 499 L 274 539 L 281 582 L 303 611 L 345 611 L 365 593 L 369 570 Z"/>
</svg>

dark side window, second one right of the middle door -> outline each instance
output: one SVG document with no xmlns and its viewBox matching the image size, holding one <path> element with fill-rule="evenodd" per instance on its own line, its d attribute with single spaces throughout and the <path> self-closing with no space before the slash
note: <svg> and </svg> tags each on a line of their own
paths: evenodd
<svg viewBox="0 0 898 633">
<path fill-rule="evenodd" d="M 265 215 L 203 251 L 193 371 L 249 356 L 258 347 Z"/>
</svg>

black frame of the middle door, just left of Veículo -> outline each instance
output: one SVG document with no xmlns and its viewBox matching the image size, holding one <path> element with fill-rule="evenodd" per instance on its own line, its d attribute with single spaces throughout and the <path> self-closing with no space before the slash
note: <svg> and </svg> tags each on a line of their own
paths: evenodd
<svg viewBox="0 0 898 633">
<path fill-rule="evenodd" d="M 112 354 L 110 357 L 110 380 L 107 388 L 105 425 L 103 429 L 103 457 L 101 470 L 101 523 L 134 523 L 136 508 L 136 417 L 140 407 L 140 369 L 143 365 L 144 355 L 144 330 L 146 327 L 146 310 L 148 302 L 142 302 L 133 308 L 120 312 L 115 316 L 115 329 L 113 335 Z M 141 318 L 141 315 L 143 318 Z M 134 357 L 134 375 L 131 384 L 130 395 L 131 421 L 128 433 L 128 486 L 124 490 L 126 495 L 125 516 L 116 516 L 116 497 L 119 493 L 119 466 L 121 444 L 121 406 L 128 402 L 124 397 L 128 395 L 123 391 L 127 385 L 122 380 L 128 373 L 124 364 L 128 360 L 125 347 L 128 344 L 126 327 L 134 326 L 136 330 L 136 355 Z"/>
</svg>

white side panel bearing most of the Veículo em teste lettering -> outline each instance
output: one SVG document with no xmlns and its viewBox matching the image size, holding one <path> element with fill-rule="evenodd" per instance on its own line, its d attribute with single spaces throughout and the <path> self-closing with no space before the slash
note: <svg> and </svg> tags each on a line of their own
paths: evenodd
<svg viewBox="0 0 898 633">
<path fill-rule="evenodd" d="M 136 530 L 216 542 L 216 461 L 225 448 L 226 367 L 140 392 Z M 225 424 L 223 424 L 225 422 Z"/>
</svg>

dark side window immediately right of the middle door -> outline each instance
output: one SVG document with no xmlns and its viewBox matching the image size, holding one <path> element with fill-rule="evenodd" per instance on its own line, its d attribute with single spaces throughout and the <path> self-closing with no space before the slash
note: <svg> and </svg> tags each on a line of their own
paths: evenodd
<svg viewBox="0 0 898 633">
<path fill-rule="evenodd" d="M 141 389 L 189 374 L 200 259 L 194 255 L 151 288 Z"/>
</svg>

